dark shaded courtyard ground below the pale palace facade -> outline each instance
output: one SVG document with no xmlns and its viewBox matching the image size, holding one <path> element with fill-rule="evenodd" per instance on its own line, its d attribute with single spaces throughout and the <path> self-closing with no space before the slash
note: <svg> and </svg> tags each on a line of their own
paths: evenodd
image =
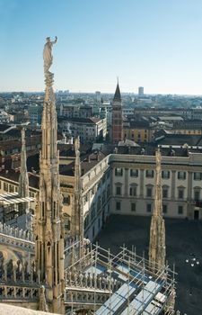
<svg viewBox="0 0 202 315">
<path fill-rule="evenodd" d="M 125 244 L 136 247 L 136 254 L 148 254 L 151 218 L 113 215 L 97 240 L 112 253 Z M 176 309 L 181 314 L 202 314 L 202 222 L 199 220 L 165 220 L 166 257 L 178 273 Z M 195 260 L 196 258 L 196 260 Z M 189 263 L 186 260 L 189 259 Z M 196 262 L 199 262 L 197 265 Z M 192 265 L 194 266 L 191 266 Z"/>
</svg>

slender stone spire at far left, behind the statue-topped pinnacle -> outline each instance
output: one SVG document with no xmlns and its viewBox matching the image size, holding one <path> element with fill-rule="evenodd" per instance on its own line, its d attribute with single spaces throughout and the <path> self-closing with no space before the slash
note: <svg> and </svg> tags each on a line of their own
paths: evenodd
<svg viewBox="0 0 202 315">
<path fill-rule="evenodd" d="M 29 179 L 27 173 L 27 155 L 25 146 L 25 130 L 22 128 L 22 149 L 21 149 L 21 174 L 19 177 L 19 197 L 29 197 Z M 24 202 L 20 204 L 19 214 L 22 215 L 26 212 L 28 203 Z"/>
</svg>

